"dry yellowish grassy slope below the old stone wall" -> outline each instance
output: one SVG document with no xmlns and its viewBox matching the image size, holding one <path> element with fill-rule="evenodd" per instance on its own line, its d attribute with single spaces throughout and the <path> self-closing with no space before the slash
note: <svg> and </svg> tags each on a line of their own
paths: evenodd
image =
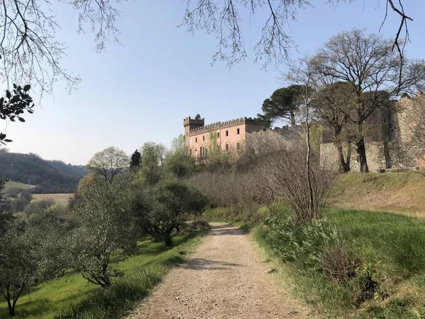
<svg viewBox="0 0 425 319">
<path fill-rule="evenodd" d="M 391 211 L 425 217 L 425 177 L 417 172 L 350 173 L 339 176 L 331 206 Z"/>
</svg>

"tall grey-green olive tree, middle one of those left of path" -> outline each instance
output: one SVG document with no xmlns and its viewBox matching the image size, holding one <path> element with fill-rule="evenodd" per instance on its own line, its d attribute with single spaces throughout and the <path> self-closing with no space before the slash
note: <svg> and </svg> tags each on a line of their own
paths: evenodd
<svg viewBox="0 0 425 319">
<path fill-rule="evenodd" d="M 136 245 L 134 217 L 128 192 L 122 184 L 91 186 L 75 214 L 79 228 L 69 235 L 65 254 L 69 267 L 93 284 L 111 286 L 111 258 L 134 251 Z"/>
</svg>

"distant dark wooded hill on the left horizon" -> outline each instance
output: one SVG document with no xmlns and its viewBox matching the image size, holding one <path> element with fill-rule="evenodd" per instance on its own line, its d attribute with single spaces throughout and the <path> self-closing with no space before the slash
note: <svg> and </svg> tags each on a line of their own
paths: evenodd
<svg viewBox="0 0 425 319">
<path fill-rule="evenodd" d="M 35 192 L 72 193 L 84 177 L 83 166 L 47 161 L 34 154 L 0 152 L 0 172 L 12 181 L 37 186 Z"/>
</svg>

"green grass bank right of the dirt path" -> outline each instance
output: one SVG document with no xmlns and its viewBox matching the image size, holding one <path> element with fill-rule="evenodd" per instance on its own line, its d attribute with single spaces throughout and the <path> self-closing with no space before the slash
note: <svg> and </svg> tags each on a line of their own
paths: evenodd
<svg viewBox="0 0 425 319">
<path fill-rule="evenodd" d="M 359 261 L 358 274 L 373 269 L 379 293 L 356 305 L 356 278 L 336 284 L 301 263 L 280 262 L 261 237 L 262 228 L 256 228 L 266 257 L 277 263 L 280 284 L 325 318 L 425 318 L 425 220 L 341 208 L 329 208 L 324 215 L 339 230 L 341 245 Z"/>
</svg>

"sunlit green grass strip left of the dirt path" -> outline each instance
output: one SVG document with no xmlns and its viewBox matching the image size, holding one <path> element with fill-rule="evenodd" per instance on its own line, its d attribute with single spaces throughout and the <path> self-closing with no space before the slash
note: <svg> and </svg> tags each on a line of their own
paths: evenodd
<svg viewBox="0 0 425 319">
<path fill-rule="evenodd" d="M 73 272 L 47 281 L 19 299 L 16 318 L 119 318 L 145 298 L 185 254 L 192 252 L 203 234 L 176 235 L 174 247 L 140 242 L 137 254 L 115 265 L 125 275 L 113 280 L 107 290 Z M 5 302 L 0 302 L 0 318 L 8 318 Z"/>
</svg>

